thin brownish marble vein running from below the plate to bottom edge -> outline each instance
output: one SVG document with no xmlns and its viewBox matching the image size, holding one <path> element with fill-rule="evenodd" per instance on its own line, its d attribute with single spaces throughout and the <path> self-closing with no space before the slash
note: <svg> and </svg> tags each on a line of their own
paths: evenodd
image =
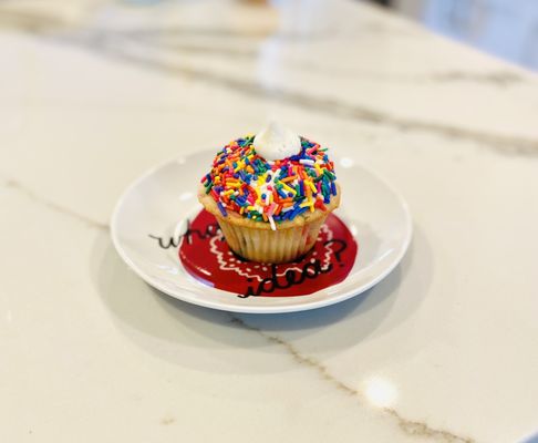
<svg viewBox="0 0 538 443">
<path fill-rule="evenodd" d="M 234 324 L 237 324 L 244 329 L 260 334 L 261 337 L 263 337 L 263 339 L 266 339 L 270 343 L 282 347 L 294 361 L 297 361 L 301 365 L 304 365 L 315 371 L 322 380 L 331 383 L 340 392 L 356 398 L 356 400 L 361 404 L 366 403 L 360 391 L 358 391 L 356 389 L 350 387 L 345 382 L 335 378 L 321 362 L 313 359 L 312 357 L 302 354 L 290 342 L 281 339 L 280 337 L 269 334 L 262 331 L 261 329 L 250 326 L 236 316 L 230 315 L 230 321 Z M 404 416 L 402 416 L 395 409 L 392 408 L 381 408 L 380 411 L 382 411 L 385 415 L 391 416 L 393 420 L 395 420 L 399 427 L 407 435 L 417 436 L 417 437 L 427 437 L 431 439 L 432 441 L 444 442 L 444 443 L 474 443 L 475 442 L 475 440 L 469 439 L 467 436 L 457 435 L 449 431 L 432 427 L 425 422 L 407 420 Z"/>
</svg>

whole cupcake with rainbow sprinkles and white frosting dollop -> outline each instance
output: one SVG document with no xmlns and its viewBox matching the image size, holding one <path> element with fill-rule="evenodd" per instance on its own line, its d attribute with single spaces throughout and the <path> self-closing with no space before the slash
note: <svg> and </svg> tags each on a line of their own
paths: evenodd
<svg viewBox="0 0 538 443">
<path fill-rule="evenodd" d="M 335 179 L 327 148 L 271 123 L 217 153 L 198 199 L 217 218 L 231 250 L 280 264 L 314 245 L 340 204 Z"/>
</svg>

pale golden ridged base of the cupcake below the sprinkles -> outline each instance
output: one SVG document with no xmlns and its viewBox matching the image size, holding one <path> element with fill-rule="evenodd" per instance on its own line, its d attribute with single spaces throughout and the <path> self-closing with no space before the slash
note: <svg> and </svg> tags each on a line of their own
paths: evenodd
<svg viewBox="0 0 538 443">
<path fill-rule="evenodd" d="M 280 230 L 256 229 L 220 217 L 217 220 L 228 246 L 236 254 L 252 261 L 280 264 L 307 254 L 318 239 L 325 218 L 327 215 L 303 226 Z"/>
</svg>

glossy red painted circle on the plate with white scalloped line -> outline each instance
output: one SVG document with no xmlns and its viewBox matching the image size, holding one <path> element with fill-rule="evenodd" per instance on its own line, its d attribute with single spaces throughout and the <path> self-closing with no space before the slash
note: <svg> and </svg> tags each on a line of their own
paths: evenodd
<svg viewBox="0 0 538 443">
<path fill-rule="evenodd" d="M 344 223 L 327 217 L 318 241 L 289 264 L 248 261 L 234 254 L 215 217 L 201 210 L 183 236 L 179 259 L 196 279 L 238 297 L 307 296 L 345 279 L 353 268 L 358 245 Z"/>
</svg>

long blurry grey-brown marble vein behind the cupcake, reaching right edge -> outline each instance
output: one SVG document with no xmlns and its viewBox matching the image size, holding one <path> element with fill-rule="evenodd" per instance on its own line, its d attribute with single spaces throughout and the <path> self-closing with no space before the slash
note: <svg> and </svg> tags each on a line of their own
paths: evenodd
<svg viewBox="0 0 538 443">
<path fill-rule="evenodd" d="M 162 60 L 152 60 L 147 58 L 146 52 L 143 54 L 141 54 L 141 51 L 136 51 L 136 53 L 130 52 L 128 41 L 124 41 L 123 44 L 118 45 L 117 43 L 122 43 L 121 39 L 107 39 L 106 35 L 103 34 L 79 35 L 79 38 L 61 40 L 61 42 L 81 44 L 101 55 L 130 62 L 142 68 L 158 70 L 172 75 L 188 76 L 189 79 L 226 87 L 245 95 L 278 100 L 281 103 L 299 106 L 308 111 L 314 111 L 331 116 L 351 119 L 374 125 L 389 126 L 402 132 L 425 132 L 445 138 L 474 142 L 480 146 L 496 150 L 501 154 L 528 156 L 538 155 L 538 140 L 493 134 L 479 130 L 458 127 L 449 124 L 395 116 L 372 107 L 345 103 L 331 97 L 314 96 L 299 91 L 278 87 L 267 87 L 252 81 L 226 76 L 219 72 L 211 72 L 210 70 L 201 70 L 192 66 L 186 68 L 172 64 L 169 62 L 164 62 Z"/>
</svg>

